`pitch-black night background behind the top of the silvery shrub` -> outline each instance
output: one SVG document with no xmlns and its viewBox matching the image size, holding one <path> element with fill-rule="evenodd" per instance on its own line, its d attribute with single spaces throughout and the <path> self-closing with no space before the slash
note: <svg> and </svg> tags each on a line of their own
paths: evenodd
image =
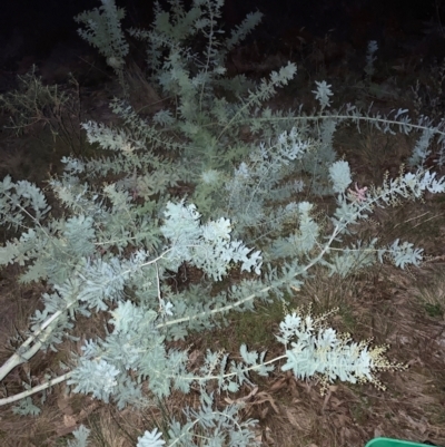
<svg viewBox="0 0 445 447">
<path fill-rule="evenodd" d="M 73 20 L 78 13 L 100 7 L 99 0 L 0 1 L 0 93 L 10 89 L 16 75 L 27 72 L 33 64 L 48 82 L 61 81 L 68 71 L 81 71 L 76 64 L 86 64 L 88 57 L 88 64 L 95 59 L 96 67 L 102 64 L 102 70 L 109 70 L 97 50 L 78 36 L 79 26 Z M 150 26 L 152 0 L 116 2 L 127 11 L 123 29 Z M 160 3 L 168 8 L 165 0 Z M 306 40 L 329 33 L 330 39 L 346 42 L 362 55 L 374 39 L 379 50 L 390 47 L 387 59 L 402 58 L 407 52 L 418 54 L 424 60 L 427 52 L 439 60 L 445 57 L 445 0 L 226 0 L 226 29 L 233 29 L 255 10 L 261 11 L 264 18 L 246 43 L 253 39 L 263 42 L 261 54 L 277 52 L 283 42 L 290 41 L 291 46 L 293 39 L 298 42 L 304 28 Z M 429 33 L 425 33 L 428 27 Z M 431 31 L 433 28 L 435 31 Z M 144 48 L 139 52 L 144 59 Z"/>
</svg>

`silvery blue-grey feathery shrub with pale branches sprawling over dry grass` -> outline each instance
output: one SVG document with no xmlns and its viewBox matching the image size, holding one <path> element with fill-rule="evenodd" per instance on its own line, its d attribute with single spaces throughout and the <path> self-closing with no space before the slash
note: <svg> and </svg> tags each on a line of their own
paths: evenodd
<svg viewBox="0 0 445 447">
<path fill-rule="evenodd" d="M 128 50 L 120 28 L 123 11 L 113 0 L 101 1 L 99 10 L 79 16 L 87 26 L 81 35 L 119 75 Z M 156 405 L 172 390 L 195 390 L 200 408 L 186 408 L 186 421 L 172 418 L 166 433 L 147 430 L 138 446 L 195 446 L 196 430 L 206 434 L 199 445 L 255 445 L 255 421 L 239 420 L 238 404 L 216 411 L 209 385 L 215 392 L 251 387 L 250 373 L 267 376 L 277 360 L 285 360 L 281 369 L 297 378 L 320 375 L 349 382 L 375 381 L 375 372 L 396 365 L 378 356 L 379 362 L 372 360 L 376 352 L 368 344 L 342 339 L 313 315 L 295 312 L 280 324 L 284 353 L 276 359 L 246 346 L 239 361 L 209 350 L 191 371 L 189 352 L 169 342 L 220 324 L 230 310 L 250 311 L 257 302 L 284 299 L 317 264 L 342 276 L 387 260 L 402 269 L 418 265 L 422 249 L 409 241 L 354 240 L 354 229 L 375 207 L 445 192 L 445 179 L 424 169 L 433 138 L 438 136 L 444 150 L 443 124 L 424 118 L 413 124 L 403 109 L 389 116 L 349 104 L 335 109 L 326 81 L 313 90 L 319 103 L 314 114 L 273 111 L 264 104 L 296 75 L 294 64 L 259 82 L 225 77 L 227 52 L 260 14 L 249 14 L 225 38 L 217 23 L 222 0 L 194 0 L 188 11 L 180 0 L 169 4 L 168 12 L 156 3 L 151 29 L 131 33 L 148 41 L 150 79 L 175 97 L 177 107 L 142 119 L 115 100 L 121 127 L 85 123 L 89 143 L 108 155 L 62 159 L 63 174 L 48 184 L 62 213 L 51 214 L 44 193 L 29 182 L 6 177 L 0 183 L 0 224 L 17 233 L 0 247 L 0 265 L 18 264 L 21 281 L 47 284 L 42 310 L 0 367 L 0 380 L 38 350 L 57 350 L 73 338 L 78 315 L 101 312 L 108 319 L 103 338 L 87 340 L 81 354 L 73 352 L 67 372 L 0 405 L 22 399 L 18 411 L 36 414 L 30 396 L 62 381 L 73 392 L 119 408 Z M 201 52 L 190 43 L 198 38 Z M 365 122 L 384 133 L 421 132 L 409 172 L 378 187 L 354 184 L 349 164 L 334 149 L 334 136 L 343 124 L 359 132 Z M 251 137 L 247 142 L 240 137 L 245 132 Z M 330 215 L 317 214 L 314 194 L 332 197 Z M 174 286 L 175 274 L 190 266 L 201 272 L 201 281 Z M 246 278 L 216 291 L 215 282 L 233 269 Z M 87 445 L 86 430 L 77 431 L 72 445 Z"/>
</svg>

